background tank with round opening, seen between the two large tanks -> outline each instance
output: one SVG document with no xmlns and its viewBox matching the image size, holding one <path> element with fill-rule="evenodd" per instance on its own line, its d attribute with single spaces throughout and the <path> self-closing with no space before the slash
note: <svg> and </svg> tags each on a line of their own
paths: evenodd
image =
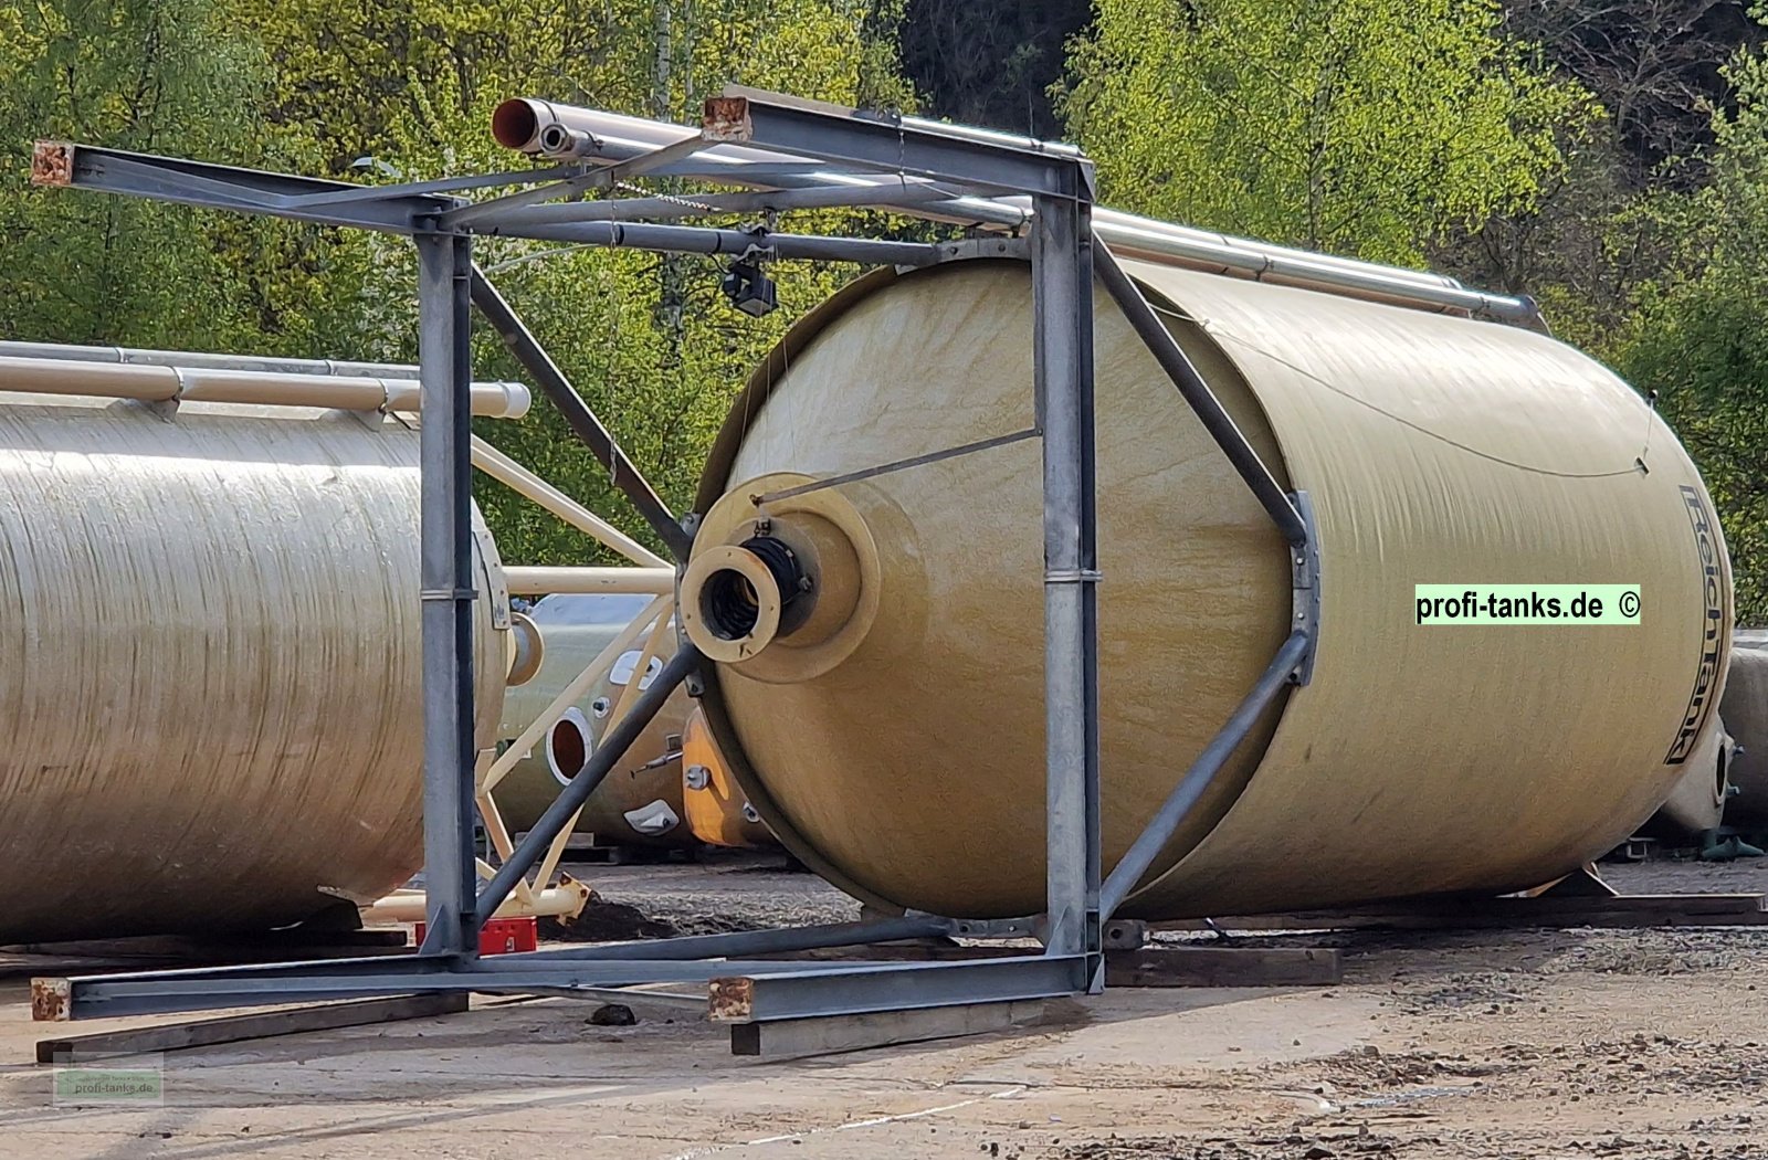
<svg viewBox="0 0 1768 1160">
<path fill-rule="evenodd" d="M 606 649 L 651 603 L 631 594 L 559 594 L 529 610 L 541 638 L 539 670 L 504 697 L 499 737 L 516 739 L 571 681 Z M 566 709 L 557 725 L 497 783 L 497 808 L 511 833 L 532 829 L 559 790 L 583 767 L 606 732 L 608 716 L 635 677 L 644 640 L 615 658 L 608 674 Z M 652 658 L 640 688 L 661 660 Z M 576 831 L 598 845 L 693 847 L 682 824 L 681 737 L 693 702 L 677 690 L 638 739 L 596 787 L 576 819 Z"/>
</svg>

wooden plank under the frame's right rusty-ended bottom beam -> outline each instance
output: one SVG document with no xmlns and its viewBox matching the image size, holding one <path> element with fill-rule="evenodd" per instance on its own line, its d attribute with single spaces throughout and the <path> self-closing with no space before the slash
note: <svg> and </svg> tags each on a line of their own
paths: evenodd
<svg viewBox="0 0 1768 1160">
<path fill-rule="evenodd" d="M 827 1015 L 819 1019 L 776 1019 L 730 1026 L 732 1056 L 826 1056 L 831 1052 L 923 1043 L 965 1034 L 985 1034 L 1034 1024 L 1043 1019 L 1045 1001 L 967 1003 L 911 1011 L 875 1011 L 868 1015 Z"/>
</svg>

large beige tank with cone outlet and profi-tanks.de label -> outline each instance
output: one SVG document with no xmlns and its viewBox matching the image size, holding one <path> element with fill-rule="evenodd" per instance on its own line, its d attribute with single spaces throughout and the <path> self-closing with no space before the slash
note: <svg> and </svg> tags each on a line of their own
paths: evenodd
<svg viewBox="0 0 1768 1160">
<path fill-rule="evenodd" d="M 1710 500 L 1653 410 L 1538 332 L 1126 265 L 1310 495 L 1321 612 L 1312 683 L 1124 914 L 1512 891 L 1632 833 L 1708 729 L 1731 631 Z M 1103 292 L 1094 320 L 1110 870 L 1292 610 L 1262 508 Z M 865 278 L 753 377 L 702 479 L 681 615 L 713 732 L 780 840 L 877 905 L 1043 909 L 1040 447 L 792 488 L 1031 426 L 1031 325 L 1018 263 Z M 1642 615 L 1420 626 L 1420 584 L 1637 584 Z"/>
</svg>

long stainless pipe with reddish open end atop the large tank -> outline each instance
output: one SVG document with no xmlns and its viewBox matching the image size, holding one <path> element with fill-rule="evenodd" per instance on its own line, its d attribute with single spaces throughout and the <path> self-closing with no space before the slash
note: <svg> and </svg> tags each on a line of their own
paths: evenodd
<svg viewBox="0 0 1768 1160">
<path fill-rule="evenodd" d="M 545 156 L 541 136 L 548 126 L 568 131 L 575 159 L 596 161 L 626 161 L 697 136 L 697 131 L 686 126 L 529 97 L 504 101 L 492 118 L 492 131 L 499 143 L 536 156 Z M 1018 141 L 1020 138 L 1011 140 Z M 852 173 L 790 172 L 790 166 L 803 163 L 803 157 L 792 154 L 748 145 L 709 145 L 695 154 L 697 168 L 716 173 L 720 180 L 758 189 L 879 184 Z M 781 166 L 787 170 L 781 172 Z M 757 173 L 744 179 L 744 168 Z M 949 198 L 896 203 L 888 200 L 888 189 L 880 189 L 879 195 L 880 205 L 932 221 L 1017 230 L 1031 219 L 1029 202 L 1022 198 Z M 1107 246 L 1146 260 L 1427 309 L 1464 309 L 1506 322 L 1540 324 L 1540 309 L 1533 301 L 1469 290 L 1443 274 L 1317 255 L 1107 209 L 1094 210 L 1093 230 Z"/>
</svg>

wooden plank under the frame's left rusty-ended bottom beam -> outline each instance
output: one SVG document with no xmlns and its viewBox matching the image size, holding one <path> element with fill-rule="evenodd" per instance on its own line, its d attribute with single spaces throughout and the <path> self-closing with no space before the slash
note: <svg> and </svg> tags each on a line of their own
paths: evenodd
<svg viewBox="0 0 1768 1160">
<path fill-rule="evenodd" d="M 398 1019 L 454 1015 L 467 1010 L 467 1001 L 469 996 L 463 992 L 433 992 L 394 999 L 324 1003 L 279 1011 L 255 1011 L 249 1015 L 223 1015 L 221 1019 L 124 1027 L 122 1031 L 95 1031 L 92 1034 L 37 1040 L 37 1063 L 76 1063 L 92 1057 L 214 1047 L 216 1043 L 237 1043 L 240 1040 L 262 1040 L 302 1031 L 362 1027 Z"/>
</svg>

